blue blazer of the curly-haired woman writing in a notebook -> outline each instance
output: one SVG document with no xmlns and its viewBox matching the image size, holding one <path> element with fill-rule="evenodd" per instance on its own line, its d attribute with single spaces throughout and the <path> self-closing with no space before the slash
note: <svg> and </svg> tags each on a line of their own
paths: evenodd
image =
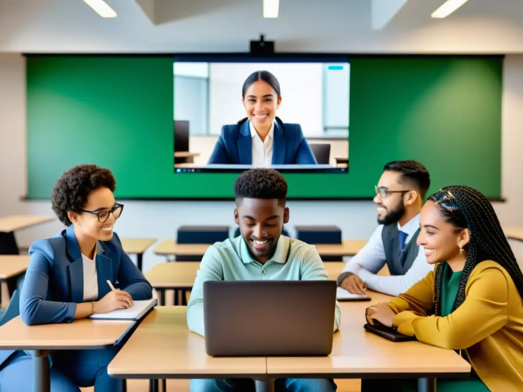
<svg viewBox="0 0 523 392">
<path fill-rule="evenodd" d="M 22 321 L 27 325 L 73 321 L 76 304 L 84 302 L 82 253 L 73 226 L 36 241 L 29 255 L 29 267 L 19 289 Z M 152 298 L 151 284 L 123 251 L 116 233 L 109 241 L 98 241 L 96 273 L 98 299 L 111 290 L 107 280 L 134 300 Z M 0 364 L 13 352 L 0 351 Z"/>
</svg>

